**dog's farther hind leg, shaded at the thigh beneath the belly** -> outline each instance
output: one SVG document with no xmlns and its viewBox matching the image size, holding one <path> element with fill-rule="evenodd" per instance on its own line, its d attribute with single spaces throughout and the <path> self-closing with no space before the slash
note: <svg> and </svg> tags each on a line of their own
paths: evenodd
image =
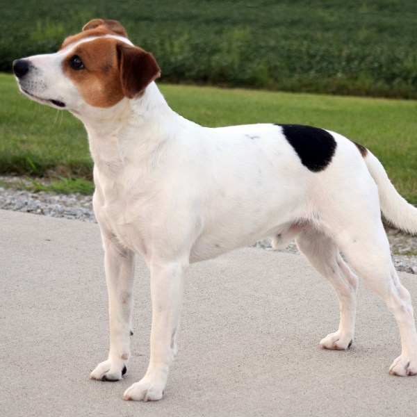
<svg viewBox="0 0 417 417">
<path fill-rule="evenodd" d="M 345 350 L 353 342 L 358 279 L 347 267 L 336 243 L 314 227 L 304 229 L 295 238 L 298 248 L 316 270 L 332 284 L 340 306 L 337 332 L 320 341 L 324 349 Z"/>
</svg>

